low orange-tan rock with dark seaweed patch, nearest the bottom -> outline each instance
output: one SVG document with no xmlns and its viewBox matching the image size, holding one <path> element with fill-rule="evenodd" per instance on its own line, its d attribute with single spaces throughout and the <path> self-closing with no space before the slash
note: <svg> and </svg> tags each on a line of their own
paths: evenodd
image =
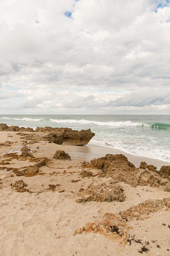
<svg viewBox="0 0 170 256">
<path fill-rule="evenodd" d="M 83 228 L 76 229 L 74 235 L 93 232 L 105 235 L 110 241 L 118 241 L 125 245 L 127 242 L 127 232 L 131 227 L 128 227 L 126 222 L 121 218 L 116 217 L 113 213 L 105 213 L 103 218 L 86 224 Z"/>
</svg>

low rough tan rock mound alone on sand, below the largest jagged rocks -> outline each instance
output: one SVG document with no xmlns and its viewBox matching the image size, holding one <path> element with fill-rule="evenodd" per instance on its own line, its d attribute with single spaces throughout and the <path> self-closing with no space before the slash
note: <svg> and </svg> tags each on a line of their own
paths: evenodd
<svg viewBox="0 0 170 256">
<path fill-rule="evenodd" d="M 123 202 L 125 200 L 122 187 L 112 184 L 112 182 L 110 182 L 109 184 L 102 183 L 97 186 L 93 186 L 92 184 L 90 184 L 87 189 L 79 192 L 78 196 L 80 198 L 76 200 L 77 203 L 85 203 L 89 201 Z"/>
</svg>

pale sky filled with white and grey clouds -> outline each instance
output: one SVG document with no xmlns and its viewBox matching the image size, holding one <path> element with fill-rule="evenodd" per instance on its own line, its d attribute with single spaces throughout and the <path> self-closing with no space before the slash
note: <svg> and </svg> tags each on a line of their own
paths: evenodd
<svg viewBox="0 0 170 256">
<path fill-rule="evenodd" d="M 167 0 L 1 0 L 0 114 L 170 113 Z"/>
</svg>

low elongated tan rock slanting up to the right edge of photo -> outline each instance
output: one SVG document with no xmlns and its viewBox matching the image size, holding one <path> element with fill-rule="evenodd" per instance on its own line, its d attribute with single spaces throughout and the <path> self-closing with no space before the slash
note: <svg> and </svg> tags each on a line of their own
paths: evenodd
<svg viewBox="0 0 170 256">
<path fill-rule="evenodd" d="M 119 212 L 122 219 L 132 220 L 139 218 L 147 218 L 149 213 L 158 212 L 166 207 L 170 209 L 170 198 L 164 198 L 162 200 L 146 200 L 141 204 L 130 207 L 124 212 Z"/>
</svg>

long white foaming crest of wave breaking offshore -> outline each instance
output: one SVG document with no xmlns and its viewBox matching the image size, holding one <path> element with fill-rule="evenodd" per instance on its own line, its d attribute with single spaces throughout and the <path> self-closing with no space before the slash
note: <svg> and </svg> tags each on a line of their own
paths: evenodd
<svg viewBox="0 0 170 256">
<path fill-rule="evenodd" d="M 96 124 L 99 126 L 113 126 L 113 127 L 120 127 L 120 125 L 124 126 L 149 126 L 145 123 L 139 123 L 139 122 L 131 122 L 131 121 L 125 121 L 125 122 L 96 122 L 96 121 L 90 121 L 90 120 L 76 120 L 76 119 L 70 119 L 70 120 L 58 120 L 58 119 L 50 119 L 51 122 L 55 123 L 69 123 L 69 124 Z"/>
</svg>

